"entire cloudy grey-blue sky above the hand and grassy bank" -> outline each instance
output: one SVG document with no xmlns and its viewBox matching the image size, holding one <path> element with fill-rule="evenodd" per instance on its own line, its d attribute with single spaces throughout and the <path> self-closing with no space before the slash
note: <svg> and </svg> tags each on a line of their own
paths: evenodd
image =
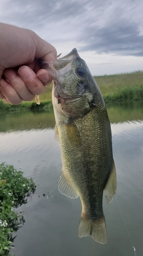
<svg viewBox="0 0 143 256">
<path fill-rule="evenodd" d="M 0 22 L 35 31 L 93 75 L 143 70 L 142 0 L 1 0 Z"/>
</svg>

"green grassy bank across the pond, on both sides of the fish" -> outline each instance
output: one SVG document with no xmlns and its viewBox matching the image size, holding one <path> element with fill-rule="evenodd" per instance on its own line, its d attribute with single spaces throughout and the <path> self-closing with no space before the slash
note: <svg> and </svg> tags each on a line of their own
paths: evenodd
<svg viewBox="0 0 143 256">
<path fill-rule="evenodd" d="M 143 71 L 133 73 L 94 76 L 105 104 L 117 104 L 143 100 Z M 40 95 L 40 105 L 35 99 L 31 102 L 23 101 L 19 105 L 10 105 L 0 101 L 0 112 L 23 111 L 52 111 L 51 102 L 52 83 Z"/>
</svg>

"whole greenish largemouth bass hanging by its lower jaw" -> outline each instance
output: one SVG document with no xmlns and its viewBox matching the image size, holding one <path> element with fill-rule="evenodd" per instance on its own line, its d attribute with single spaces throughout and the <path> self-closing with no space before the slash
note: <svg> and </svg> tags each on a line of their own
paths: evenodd
<svg viewBox="0 0 143 256">
<path fill-rule="evenodd" d="M 103 191 L 109 204 L 117 188 L 112 138 L 106 106 L 87 64 L 74 48 L 59 59 L 45 62 L 53 79 L 55 136 L 59 140 L 62 174 L 59 191 L 80 198 L 78 237 L 107 242 Z"/>
</svg>

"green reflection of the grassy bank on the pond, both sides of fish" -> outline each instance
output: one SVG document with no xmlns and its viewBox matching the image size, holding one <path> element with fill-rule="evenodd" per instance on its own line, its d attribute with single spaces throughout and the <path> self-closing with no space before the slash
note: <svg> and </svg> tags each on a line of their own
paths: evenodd
<svg viewBox="0 0 143 256">
<path fill-rule="evenodd" d="M 143 102 L 107 106 L 111 123 L 143 119 Z M 53 112 L 0 113 L 0 132 L 41 130 L 55 125 Z"/>
</svg>

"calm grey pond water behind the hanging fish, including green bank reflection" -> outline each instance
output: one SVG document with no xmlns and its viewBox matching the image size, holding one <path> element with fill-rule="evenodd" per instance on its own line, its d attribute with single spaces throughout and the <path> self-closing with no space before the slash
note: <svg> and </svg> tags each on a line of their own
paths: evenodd
<svg viewBox="0 0 143 256">
<path fill-rule="evenodd" d="M 143 103 L 110 106 L 117 195 L 111 204 L 103 198 L 107 243 L 78 238 L 79 198 L 58 191 L 61 154 L 54 139 L 53 113 L 0 114 L 0 162 L 22 168 L 37 184 L 22 205 L 24 225 L 14 240 L 15 256 L 134 256 L 143 254 Z"/>
</svg>

